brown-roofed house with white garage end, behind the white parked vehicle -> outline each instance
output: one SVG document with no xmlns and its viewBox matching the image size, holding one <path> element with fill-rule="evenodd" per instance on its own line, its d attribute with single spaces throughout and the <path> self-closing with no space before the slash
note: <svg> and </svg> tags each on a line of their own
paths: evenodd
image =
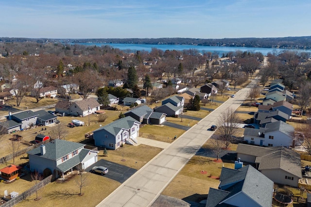
<svg viewBox="0 0 311 207">
<path fill-rule="evenodd" d="M 55 110 L 73 116 L 87 116 L 100 110 L 100 104 L 95 98 L 86 98 L 75 102 L 58 101 Z"/>
</svg>

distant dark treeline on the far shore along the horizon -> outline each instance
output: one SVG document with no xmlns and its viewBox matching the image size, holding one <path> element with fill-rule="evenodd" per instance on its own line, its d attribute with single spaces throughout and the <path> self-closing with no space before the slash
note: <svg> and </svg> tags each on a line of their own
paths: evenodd
<svg viewBox="0 0 311 207">
<path fill-rule="evenodd" d="M 305 37 L 267 37 L 267 38 L 125 38 L 125 39 L 46 39 L 46 38 L 10 38 L 0 37 L 0 42 L 37 42 L 37 43 L 120 43 L 120 44 L 154 44 L 154 45 L 199 45 L 219 47 L 249 48 L 296 48 L 310 49 L 311 36 Z"/>
</svg>

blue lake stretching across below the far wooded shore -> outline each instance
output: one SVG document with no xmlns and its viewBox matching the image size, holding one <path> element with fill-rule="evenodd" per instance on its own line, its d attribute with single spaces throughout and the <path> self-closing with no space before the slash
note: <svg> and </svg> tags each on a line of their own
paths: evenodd
<svg viewBox="0 0 311 207">
<path fill-rule="evenodd" d="M 104 46 L 109 45 L 113 48 L 119 48 L 123 51 L 127 52 L 136 52 L 137 50 L 145 50 L 150 52 L 152 48 L 161 49 L 163 51 L 165 50 L 184 50 L 184 49 L 197 49 L 200 52 L 214 52 L 217 51 L 220 56 L 222 56 L 223 53 L 227 53 L 230 51 L 250 51 L 250 52 L 261 52 L 263 55 L 267 55 L 268 52 L 272 52 L 273 50 L 276 50 L 278 52 L 281 52 L 283 50 L 296 50 L 296 51 L 308 51 L 311 52 L 311 50 L 302 50 L 302 49 L 280 49 L 280 48 L 245 48 L 245 47 L 217 47 L 217 46 L 196 46 L 196 45 L 149 45 L 149 44 L 117 44 L 117 43 L 77 43 L 79 45 L 85 45 L 85 46 Z"/>
</svg>

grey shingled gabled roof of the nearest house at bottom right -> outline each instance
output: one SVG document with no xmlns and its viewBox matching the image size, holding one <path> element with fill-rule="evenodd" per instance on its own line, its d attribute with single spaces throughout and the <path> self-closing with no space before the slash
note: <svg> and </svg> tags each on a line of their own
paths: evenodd
<svg viewBox="0 0 311 207">
<path fill-rule="evenodd" d="M 259 206 L 268 207 L 272 204 L 273 181 L 251 165 L 244 166 L 239 170 L 223 167 L 220 181 L 219 189 L 230 192 L 220 203 L 243 192 Z M 241 202 L 243 201 L 241 200 Z"/>
</svg>

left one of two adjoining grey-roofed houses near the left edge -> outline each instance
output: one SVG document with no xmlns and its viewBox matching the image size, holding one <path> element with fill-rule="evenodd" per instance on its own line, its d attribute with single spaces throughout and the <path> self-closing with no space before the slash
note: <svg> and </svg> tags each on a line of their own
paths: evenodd
<svg viewBox="0 0 311 207">
<path fill-rule="evenodd" d="M 21 128 L 30 128 L 36 125 L 37 122 L 37 113 L 34 111 L 28 110 L 28 111 L 22 111 L 19 113 L 12 114 L 9 112 L 9 115 L 6 116 L 6 120 L 10 121 L 13 120 L 17 123 L 21 123 Z"/>
</svg>

